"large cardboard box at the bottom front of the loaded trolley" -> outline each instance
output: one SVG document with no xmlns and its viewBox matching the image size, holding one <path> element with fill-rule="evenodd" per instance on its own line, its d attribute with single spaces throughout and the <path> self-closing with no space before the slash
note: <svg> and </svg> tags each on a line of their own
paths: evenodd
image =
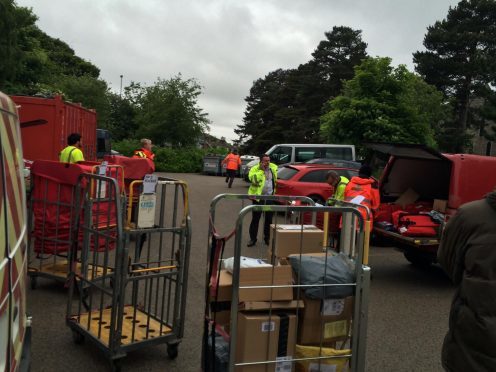
<svg viewBox="0 0 496 372">
<path fill-rule="evenodd" d="M 281 332 L 282 328 L 282 332 Z M 236 372 L 291 370 L 295 353 L 296 315 L 286 312 L 238 314 L 236 363 L 281 360 L 280 363 L 236 367 Z M 283 355 L 278 358 L 278 355 Z M 289 366 L 289 368 L 285 368 Z"/>
</svg>

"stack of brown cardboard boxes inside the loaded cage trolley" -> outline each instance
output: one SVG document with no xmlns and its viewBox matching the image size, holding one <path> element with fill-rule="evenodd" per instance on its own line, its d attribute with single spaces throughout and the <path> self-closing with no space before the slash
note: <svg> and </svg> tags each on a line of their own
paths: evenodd
<svg viewBox="0 0 496 372">
<path fill-rule="evenodd" d="M 276 364 L 242 366 L 236 371 L 290 371 L 296 344 L 328 345 L 349 334 L 353 298 L 312 300 L 293 290 L 291 254 L 322 254 L 323 231 L 315 226 L 272 225 L 270 267 L 241 268 L 236 332 L 236 362 L 279 360 Z M 272 252 L 272 249 L 274 252 Z M 212 296 L 211 315 L 230 332 L 232 274 L 221 270 L 217 293 Z M 278 286 L 277 288 L 243 288 Z M 211 291 L 212 294 L 212 291 Z M 296 296 L 295 296 L 296 294 Z M 298 300 L 295 300 L 297 298 Z"/>
</svg>

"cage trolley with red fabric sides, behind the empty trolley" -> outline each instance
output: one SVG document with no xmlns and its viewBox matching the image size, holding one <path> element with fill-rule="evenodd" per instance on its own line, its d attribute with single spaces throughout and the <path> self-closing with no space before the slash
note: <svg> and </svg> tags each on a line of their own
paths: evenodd
<svg viewBox="0 0 496 372">
<path fill-rule="evenodd" d="M 76 185 L 82 173 L 103 174 L 119 180 L 120 183 L 124 180 L 121 166 L 103 163 L 65 164 L 42 160 L 35 161 L 32 166 L 32 190 L 28 204 L 28 274 L 33 289 L 37 286 L 38 277 L 62 283 L 67 281 L 70 271 L 70 248 L 75 240 L 81 238 L 75 234 L 74 222 L 76 216 L 83 213 L 76 206 Z M 95 185 L 90 184 L 88 187 L 94 188 Z M 78 250 L 74 253 L 77 255 Z M 76 261 L 80 266 L 81 261 Z"/>
</svg>

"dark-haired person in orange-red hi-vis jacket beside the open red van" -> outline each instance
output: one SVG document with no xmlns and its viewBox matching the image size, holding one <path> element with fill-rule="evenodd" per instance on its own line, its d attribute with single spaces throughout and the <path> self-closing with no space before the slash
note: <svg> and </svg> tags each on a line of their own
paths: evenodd
<svg viewBox="0 0 496 372">
<path fill-rule="evenodd" d="M 372 169 L 368 165 L 362 165 L 358 171 L 358 177 L 352 177 L 344 190 L 344 200 L 356 204 L 361 204 L 370 210 L 370 223 L 373 222 L 373 211 L 379 207 L 381 198 L 377 189 L 377 182 L 371 178 Z M 360 208 L 364 220 L 367 219 L 367 212 Z"/>
</svg>

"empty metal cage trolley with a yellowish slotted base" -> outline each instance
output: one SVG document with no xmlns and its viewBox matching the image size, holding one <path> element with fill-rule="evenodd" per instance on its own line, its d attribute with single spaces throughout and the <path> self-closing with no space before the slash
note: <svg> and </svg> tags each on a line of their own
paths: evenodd
<svg viewBox="0 0 496 372">
<path fill-rule="evenodd" d="M 96 194 L 83 187 L 88 182 L 98 185 Z M 133 183 L 127 206 L 111 178 L 85 174 L 78 183 L 85 211 L 81 257 L 102 268 L 103 279 L 72 265 L 66 322 L 74 341 L 95 344 L 114 371 L 128 352 L 151 345 L 166 343 L 175 358 L 184 332 L 191 246 L 187 185 L 152 175 Z M 100 203 L 115 213 L 101 214 L 96 226 L 90 214 Z M 92 250 L 95 240 L 104 249 Z M 75 291 L 77 281 L 84 291 Z"/>
</svg>

